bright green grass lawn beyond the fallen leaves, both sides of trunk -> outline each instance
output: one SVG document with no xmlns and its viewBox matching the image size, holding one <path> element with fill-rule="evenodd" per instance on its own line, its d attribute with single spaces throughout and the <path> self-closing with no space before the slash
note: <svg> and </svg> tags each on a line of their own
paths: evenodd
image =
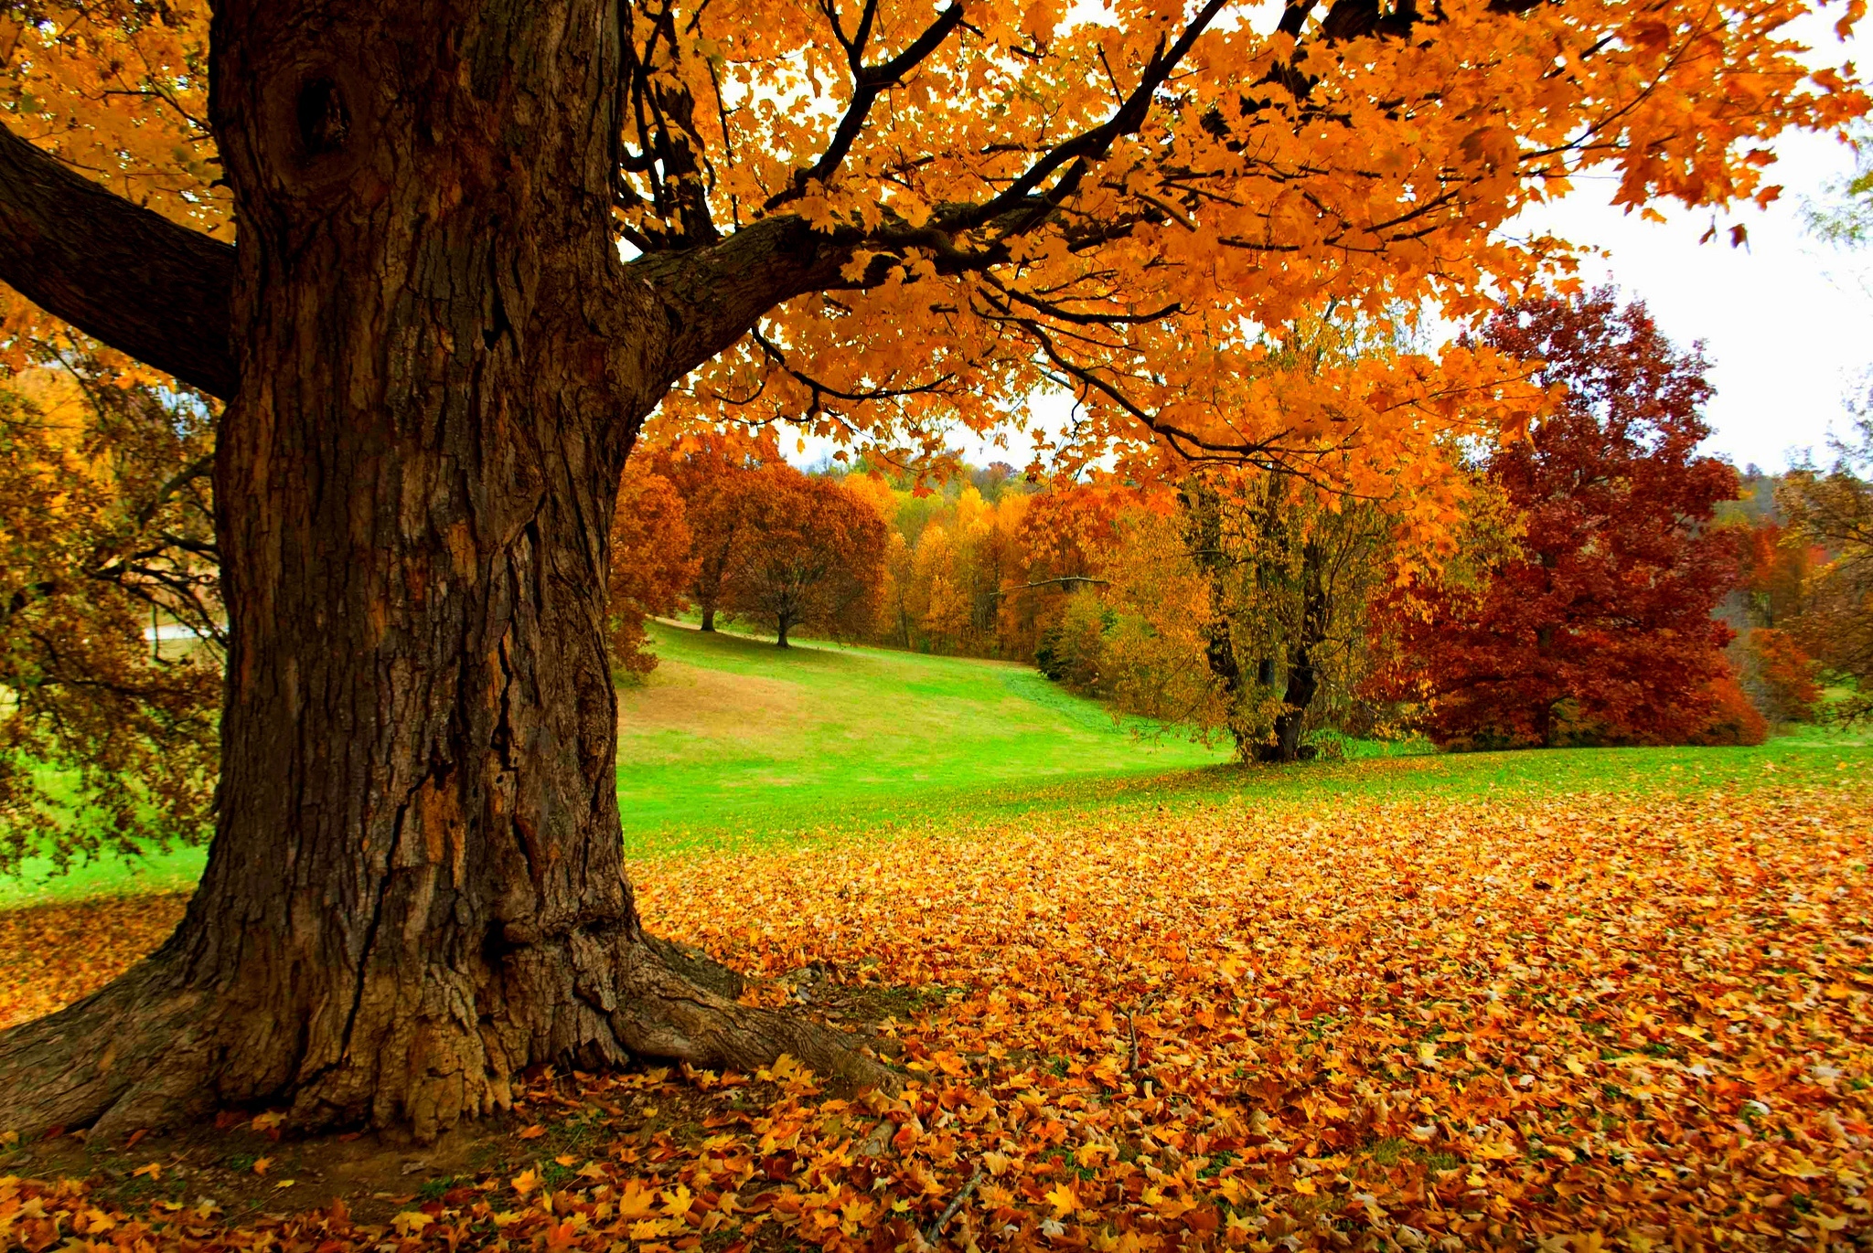
<svg viewBox="0 0 1873 1253">
<path fill-rule="evenodd" d="M 1397 753 L 1234 766 L 1174 734 L 1139 738 L 1032 669 L 811 642 L 779 650 L 652 624 L 657 669 L 618 693 L 618 805 L 635 858 L 708 847 L 888 835 L 1028 811 L 1532 792 L 1832 787 L 1873 768 L 1866 734 L 1802 729 L 1746 749 Z M 111 858 L 0 878 L 0 908 L 172 892 L 204 852 Z"/>
</svg>

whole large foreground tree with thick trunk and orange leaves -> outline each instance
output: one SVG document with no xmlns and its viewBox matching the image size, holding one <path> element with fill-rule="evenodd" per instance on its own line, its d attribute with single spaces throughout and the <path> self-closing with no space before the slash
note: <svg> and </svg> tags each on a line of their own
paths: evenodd
<svg viewBox="0 0 1873 1253">
<path fill-rule="evenodd" d="M 0 1039 L 0 1126 L 266 1099 L 429 1137 L 629 1054 L 888 1081 L 646 942 L 603 641 L 644 418 L 918 448 L 1060 386 L 1069 463 L 1435 493 L 1418 451 L 1523 420 L 1523 367 L 1290 388 L 1268 328 L 1519 294 L 1568 253 L 1500 227 L 1581 176 L 1766 200 L 1779 131 L 1866 109 L 1804 11 L 7 0 L 0 281 L 227 403 L 230 652 L 189 912 Z"/>
</svg>

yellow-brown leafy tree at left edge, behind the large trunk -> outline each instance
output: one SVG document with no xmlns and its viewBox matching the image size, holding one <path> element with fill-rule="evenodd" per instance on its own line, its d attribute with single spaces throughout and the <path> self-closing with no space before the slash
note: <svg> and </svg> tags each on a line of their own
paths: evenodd
<svg viewBox="0 0 1873 1253">
<path fill-rule="evenodd" d="M 199 841 L 221 605 L 210 414 L 66 345 L 0 378 L 0 871 Z M 148 631 L 148 639 L 146 639 Z M 66 772 L 54 796 L 47 768 Z"/>
</svg>

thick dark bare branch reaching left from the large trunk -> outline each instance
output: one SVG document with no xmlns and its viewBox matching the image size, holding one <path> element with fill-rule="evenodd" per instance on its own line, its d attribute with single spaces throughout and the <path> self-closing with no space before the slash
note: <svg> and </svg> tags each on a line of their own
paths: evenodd
<svg viewBox="0 0 1873 1253">
<path fill-rule="evenodd" d="M 229 399 L 234 249 L 139 208 L 0 125 L 0 283 Z"/>
</svg>

